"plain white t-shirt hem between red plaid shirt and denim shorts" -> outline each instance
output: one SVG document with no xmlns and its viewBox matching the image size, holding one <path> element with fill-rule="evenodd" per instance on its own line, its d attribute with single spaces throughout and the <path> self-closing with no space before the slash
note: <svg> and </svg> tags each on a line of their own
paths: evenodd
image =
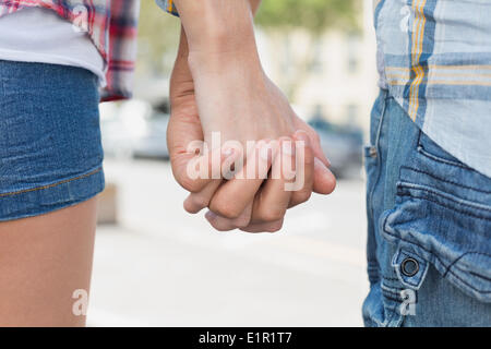
<svg viewBox="0 0 491 349">
<path fill-rule="evenodd" d="M 86 33 L 51 10 L 23 9 L 0 17 L 0 60 L 72 65 L 92 71 L 105 86 L 105 62 Z"/>
</svg>

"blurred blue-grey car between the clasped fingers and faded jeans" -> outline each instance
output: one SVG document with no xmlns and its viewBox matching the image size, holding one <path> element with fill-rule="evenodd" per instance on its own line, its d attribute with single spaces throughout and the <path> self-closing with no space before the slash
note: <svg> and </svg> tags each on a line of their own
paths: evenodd
<svg viewBox="0 0 491 349">
<path fill-rule="evenodd" d="M 333 124 L 315 117 L 309 124 L 319 133 L 321 146 L 338 178 L 358 176 L 362 164 L 363 133 L 354 127 Z"/>
</svg>

